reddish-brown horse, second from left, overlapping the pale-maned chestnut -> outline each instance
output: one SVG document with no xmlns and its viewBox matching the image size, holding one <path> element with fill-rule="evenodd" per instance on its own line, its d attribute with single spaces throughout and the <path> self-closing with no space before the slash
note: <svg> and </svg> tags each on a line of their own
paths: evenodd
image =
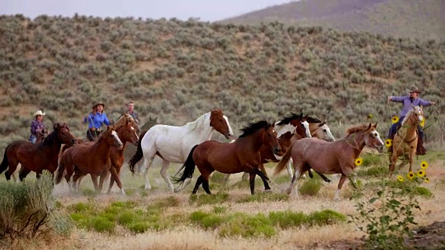
<svg viewBox="0 0 445 250">
<path fill-rule="evenodd" d="M 86 174 L 90 174 L 92 183 L 95 185 L 97 192 L 102 191 L 104 180 L 110 172 L 111 147 L 122 148 L 123 144 L 116 133 L 114 126 L 108 126 L 106 131 L 99 135 L 99 137 L 92 144 L 79 144 L 70 147 L 60 158 L 60 163 L 57 169 L 56 184 L 60 183 L 63 173 L 66 169 L 67 180 L 70 180 L 73 172 L 76 174 L 72 178 L 72 185 L 74 190 L 79 190 L 76 185 L 77 180 Z M 97 177 L 100 176 L 99 185 L 97 185 Z"/>
</svg>

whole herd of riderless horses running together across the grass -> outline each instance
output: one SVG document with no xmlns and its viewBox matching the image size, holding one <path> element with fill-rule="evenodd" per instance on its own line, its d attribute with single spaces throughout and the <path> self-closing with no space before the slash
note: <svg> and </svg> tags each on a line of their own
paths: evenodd
<svg viewBox="0 0 445 250">
<path fill-rule="evenodd" d="M 136 145 L 136 153 L 129 160 L 129 169 L 136 172 L 136 166 L 143 171 L 145 189 L 150 189 L 147 172 L 154 158 L 161 159 L 161 176 L 172 192 L 183 190 L 191 183 L 195 167 L 200 171 L 193 194 L 202 185 L 209 190 L 209 178 L 214 171 L 227 174 L 245 172 L 250 178 L 250 191 L 254 194 L 254 178 L 258 175 L 266 190 L 269 177 L 264 163 L 275 162 L 275 174 L 286 167 L 291 178 L 288 192 L 296 190 L 297 179 L 311 169 L 330 181 L 323 174 L 341 174 L 338 198 L 346 178 L 355 184 L 351 172 L 354 160 L 365 145 L 382 151 L 385 145 L 376 131 L 377 124 L 362 124 L 348 128 L 346 138 L 335 140 L 327 126 L 308 115 L 290 113 L 278 122 L 261 120 L 248 123 L 241 129 L 241 135 L 234 139 L 229 120 L 221 109 L 213 109 L 184 126 L 156 124 L 140 133 L 140 128 L 129 115 L 123 115 L 113 126 L 108 126 L 94 142 L 82 142 L 74 138 L 67 124 L 56 123 L 53 131 L 36 144 L 24 140 L 15 141 L 6 147 L 0 173 L 5 172 L 9 181 L 17 165 L 22 168 L 22 181 L 29 172 L 42 174 L 44 169 L 55 174 L 55 183 L 65 177 L 70 190 L 78 191 L 83 176 L 90 174 L 97 192 L 102 191 L 104 180 L 111 174 L 108 193 L 114 182 L 124 194 L 120 181 L 120 170 L 124 164 L 124 148 L 127 142 Z M 211 140 L 216 132 L 231 142 Z M 293 162 L 293 167 L 291 162 Z M 170 163 L 181 163 L 183 167 L 170 178 Z M 289 164 L 288 164 L 289 163 Z M 56 171 L 57 170 L 57 171 Z M 99 183 L 98 183 L 98 178 Z M 172 183 L 173 181 L 173 183 Z M 177 188 L 173 185 L 179 183 Z M 298 195 L 298 192 L 295 192 Z"/>
</svg>

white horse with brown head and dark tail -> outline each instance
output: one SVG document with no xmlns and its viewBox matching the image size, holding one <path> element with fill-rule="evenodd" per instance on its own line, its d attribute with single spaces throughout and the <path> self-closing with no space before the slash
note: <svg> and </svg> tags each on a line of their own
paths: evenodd
<svg viewBox="0 0 445 250">
<path fill-rule="evenodd" d="M 134 173 L 134 166 L 144 158 L 145 189 L 152 188 L 148 181 L 147 172 L 152 166 L 154 156 L 162 159 L 161 176 L 173 192 L 174 186 L 167 176 L 170 163 L 185 163 L 188 153 L 196 144 L 211 140 L 211 136 L 218 131 L 229 139 L 233 136 L 229 120 L 221 109 L 213 109 L 184 126 L 168 126 L 157 124 L 152 126 L 147 133 L 140 135 L 138 149 L 129 160 L 129 169 Z"/>
</svg>

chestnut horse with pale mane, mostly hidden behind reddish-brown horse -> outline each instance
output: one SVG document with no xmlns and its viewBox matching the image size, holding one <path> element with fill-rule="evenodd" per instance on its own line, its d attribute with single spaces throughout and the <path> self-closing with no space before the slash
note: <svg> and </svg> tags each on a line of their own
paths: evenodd
<svg viewBox="0 0 445 250">
<path fill-rule="evenodd" d="M 123 120 L 125 123 L 123 124 L 120 122 Z M 122 149 L 119 149 L 118 147 L 111 147 L 111 153 L 110 153 L 110 160 L 111 160 L 111 178 L 110 178 L 110 185 L 108 188 L 107 194 L 111 194 L 111 188 L 113 188 L 114 182 L 118 185 L 120 189 L 121 194 L 125 194 L 124 189 L 122 188 L 122 182 L 120 181 L 120 169 L 122 168 L 122 165 L 124 164 L 124 151 L 125 147 L 127 146 L 127 142 L 131 142 L 133 145 L 138 144 L 139 137 L 136 134 L 136 122 L 134 119 L 130 117 L 122 116 L 118 122 L 116 122 L 115 131 L 118 133 L 118 138 L 122 142 Z M 95 142 L 84 142 L 83 144 L 91 145 Z M 78 171 L 78 169 L 75 169 Z M 73 170 L 71 169 L 70 172 Z M 79 187 L 81 183 L 81 179 L 83 176 L 77 180 L 76 186 Z M 65 179 L 67 183 L 70 185 L 70 177 L 65 176 Z"/>
</svg>

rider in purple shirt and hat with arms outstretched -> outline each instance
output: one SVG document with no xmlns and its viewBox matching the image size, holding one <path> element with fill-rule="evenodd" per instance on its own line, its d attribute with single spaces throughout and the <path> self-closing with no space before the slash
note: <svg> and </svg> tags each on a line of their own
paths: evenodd
<svg viewBox="0 0 445 250">
<path fill-rule="evenodd" d="M 391 128 L 389 128 L 388 139 L 394 140 L 394 135 L 396 135 L 398 128 L 400 128 L 403 118 L 405 118 L 406 114 L 412 110 L 412 106 L 427 107 L 435 104 L 433 101 L 420 99 L 419 94 L 421 93 L 421 90 L 414 85 L 407 91 L 410 92 L 410 95 L 403 97 L 388 97 L 388 101 L 403 103 L 398 122 L 392 124 Z M 426 149 L 423 147 L 423 130 L 421 126 L 417 127 L 417 131 L 419 131 L 419 140 L 417 141 L 416 154 L 423 156 L 426 154 Z M 392 146 L 389 148 L 389 151 L 392 151 Z"/>
</svg>

